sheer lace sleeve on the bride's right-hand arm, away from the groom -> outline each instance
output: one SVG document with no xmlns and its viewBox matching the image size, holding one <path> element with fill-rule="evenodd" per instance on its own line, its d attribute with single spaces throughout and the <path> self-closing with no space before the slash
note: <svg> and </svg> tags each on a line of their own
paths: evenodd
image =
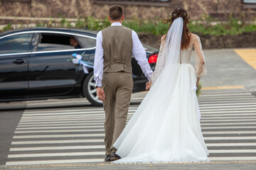
<svg viewBox="0 0 256 170">
<path fill-rule="evenodd" d="M 206 58 L 203 54 L 203 49 L 201 45 L 201 40 L 198 35 L 195 35 L 194 40 L 194 49 L 195 49 L 195 56 L 196 56 L 196 77 L 203 77 L 206 75 Z"/>
</svg>

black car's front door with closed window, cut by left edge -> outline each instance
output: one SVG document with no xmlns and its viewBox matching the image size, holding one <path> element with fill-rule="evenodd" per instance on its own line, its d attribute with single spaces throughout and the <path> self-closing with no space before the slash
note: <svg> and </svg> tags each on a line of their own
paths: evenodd
<svg viewBox="0 0 256 170">
<path fill-rule="evenodd" d="M 0 38 L 0 99 L 26 96 L 32 37 L 33 33 L 13 33 Z"/>
</svg>

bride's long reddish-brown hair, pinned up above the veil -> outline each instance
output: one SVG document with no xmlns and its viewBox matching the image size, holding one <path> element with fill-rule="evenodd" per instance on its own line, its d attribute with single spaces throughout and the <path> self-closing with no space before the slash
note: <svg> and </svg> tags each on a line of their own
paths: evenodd
<svg viewBox="0 0 256 170">
<path fill-rule="evenodd" d="M 188 30 L 187 23 L 189 23 L 189 14 L 188 12 L 183 8 L 176 8 L 171 13 L 171 18 L 164 19 L 164 23 L 170 23 L 169 28 L 171 27 L 171 24 L 174 22 L 174 20 L 178 17 L 183 18 L 183 33 L 181 38 L 181 50 L 187 49 L 191 40 L 191 33 Z"/>
</svg>

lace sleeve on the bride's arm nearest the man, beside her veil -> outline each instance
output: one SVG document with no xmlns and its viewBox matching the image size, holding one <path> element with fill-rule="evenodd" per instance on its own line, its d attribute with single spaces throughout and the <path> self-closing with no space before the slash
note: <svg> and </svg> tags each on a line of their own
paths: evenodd
<svg viewBox="0 0 256 170">
<path fill-rule="evenodd" d="M 156 81 L 157 77 L 159 77 L 159 75 L 161 74 L 161 71 L 164 69 L 165 57 L 162 56 L 162 51 L 163 51 L 165 37 L 166 37 L 166 35 L 164 35 L 161 38 L 161 45 L 160 45 L 160 49 L 159 49 L 159 55 L 158 55 L 157 61 L 156 61 L 156 67 L 154 69 L 154 73 L 151 76 L 152 85 Z"/>
</svg>

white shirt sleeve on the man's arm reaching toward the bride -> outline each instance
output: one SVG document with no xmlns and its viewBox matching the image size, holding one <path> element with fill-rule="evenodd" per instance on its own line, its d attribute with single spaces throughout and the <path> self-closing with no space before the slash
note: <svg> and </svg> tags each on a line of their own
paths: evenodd
<svg viewBox="0 0 256 170">
<path fill-rule="evenodd" d="M 137 33 L 135 33 L 134 30 L 132 30 L 132 53 L 137 60 L 139 66 L 142 68 L 142 72 L 144 75 L 151 81 L 151 76 L 153 74 L 153 71 L 150 68 L 149 62 L 146 58 L 146 51 L 142 45 L 142 42 L 140 42 L 139 37 Z"/>
</svg>

